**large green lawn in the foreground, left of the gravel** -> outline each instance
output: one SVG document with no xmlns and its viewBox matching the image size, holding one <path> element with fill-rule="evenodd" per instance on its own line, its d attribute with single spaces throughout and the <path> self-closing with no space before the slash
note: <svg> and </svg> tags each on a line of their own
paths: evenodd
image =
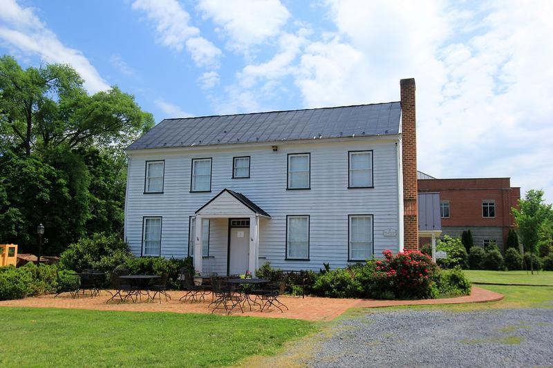
<svg viewBox="0 0 553 368">
<path fill-rule="evenodd" d="M 212 367 L 275 354 L 313 322 L 203 314 L 0 308 L 0 367 Z"/>
</svg>

